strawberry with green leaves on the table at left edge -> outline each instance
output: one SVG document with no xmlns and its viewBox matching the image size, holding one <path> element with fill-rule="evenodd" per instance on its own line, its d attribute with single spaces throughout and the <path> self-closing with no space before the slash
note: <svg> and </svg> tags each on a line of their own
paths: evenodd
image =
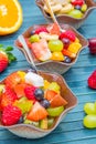
<svg viewBox="0 0 96 144">
<path fill-rule="evenodd" d="M 12 50 L 13 48 L 11 47 L 8 47 L 6 49 L 0 47 L 0 73 L 7 69 L 9 63 L 15 60 L 15 56 L 12 53 L 10 53 L 10 51 Z"/>
</svg>

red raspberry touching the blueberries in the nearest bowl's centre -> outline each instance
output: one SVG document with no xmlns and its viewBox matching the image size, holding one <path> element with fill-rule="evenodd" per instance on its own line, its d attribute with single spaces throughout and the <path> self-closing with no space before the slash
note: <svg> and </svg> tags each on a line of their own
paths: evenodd
<svg viewBox="0 0 96 144">
<path fill-rule="evenodd" d="M 36 90 L 36 88 L 33 86 L 33 85 L 26 85 L 26 86 L 24 88 L 25 96 L 26 96 L 29 100 L 32 100 L 33 102 L 36 101 L 35 95 L 34 95 L 35 90 Z"/>
</svg>

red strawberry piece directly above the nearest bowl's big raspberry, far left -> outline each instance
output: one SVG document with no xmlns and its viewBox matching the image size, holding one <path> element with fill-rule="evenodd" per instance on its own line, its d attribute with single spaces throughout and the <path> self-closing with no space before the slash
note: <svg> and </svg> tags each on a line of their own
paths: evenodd
<svg viewBox="0 0 96 144">
<path fill-rule="evenodd" d="M 13 102 L 18 100 L 17 94 L 10 88 L 6 86 L 4 92 L 1 97 L 1 107 L 6 107 L 9 104 L 13 104 Z"/>
</svg>

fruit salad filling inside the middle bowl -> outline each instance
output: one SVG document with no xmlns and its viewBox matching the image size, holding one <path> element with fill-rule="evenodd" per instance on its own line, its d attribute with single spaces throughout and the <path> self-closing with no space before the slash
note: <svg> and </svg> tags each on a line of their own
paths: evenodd
<svg viewBox="0 0 96 144">
<path fill-rule="evenodd" d="M 40 62 L 60 61 L 71 63 L 82 49 L 73 30 L 63 30 L 56 23 L 34 27 L 25 38 L 31 53 Z M 21 43 L 19 43 L 20 47 Z"/>
</svg>

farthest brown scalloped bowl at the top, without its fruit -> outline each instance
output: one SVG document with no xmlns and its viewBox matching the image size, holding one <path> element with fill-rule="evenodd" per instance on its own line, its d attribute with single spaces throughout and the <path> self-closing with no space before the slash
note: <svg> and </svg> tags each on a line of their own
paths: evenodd
<svg viewBox="0 0 96 144">
<path fill-rule="evenodd" d="M 56 19 L 60 23 L 67 23 L 72 27 L 74 27 L 75 29 L 78 29 L 83 23 L 84 21 L 87 19 L 88 14 L 94 10 L 96 9 L 96 2 L 94 2 L 94 0 L 85 0 L 86 4 L 87 4 L 87 10 L 86 12 L 84 13 L 83 18 L 81 19 L 76 19 L 76 18 L 72 18 L 67 14 L 58 14 L 56 16 Z M 49 22 L 52 22 L 52 18 L 45 12 L 44 10 L 44 4 L 43 4 L 43 1 L 42 0 L 35 0 L 35 3 L 36 6 L 40 8 L 40 10 L 42 11 L 44 18 L 49 21 Z"/>
</svg>

